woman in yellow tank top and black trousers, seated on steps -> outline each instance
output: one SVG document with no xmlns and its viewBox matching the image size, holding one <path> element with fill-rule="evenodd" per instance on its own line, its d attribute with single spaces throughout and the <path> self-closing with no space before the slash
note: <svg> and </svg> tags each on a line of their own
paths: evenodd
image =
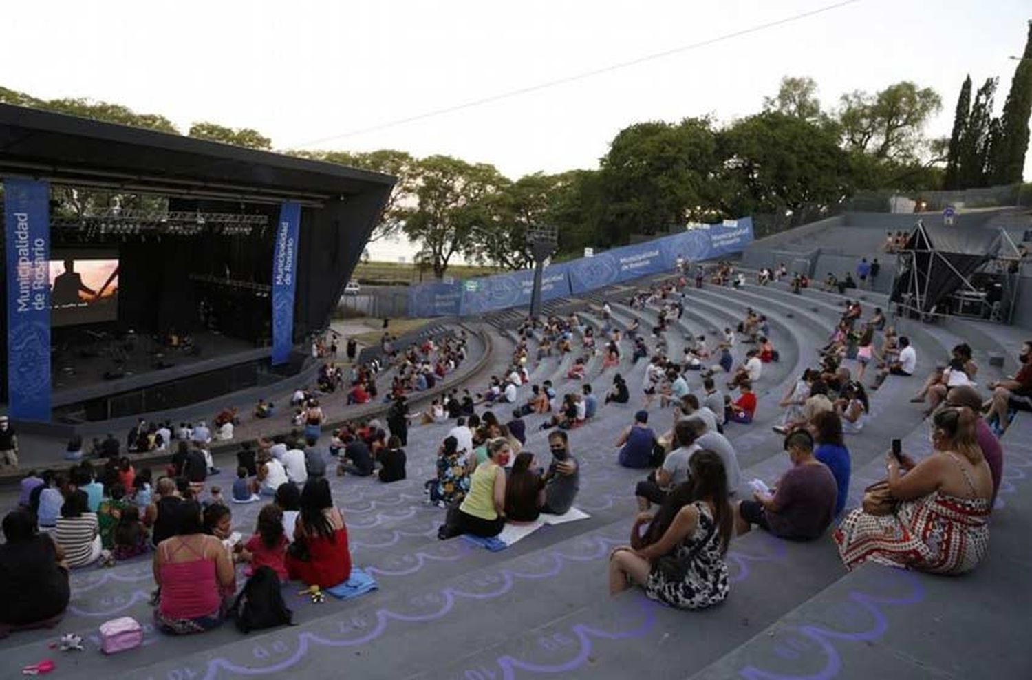
<svg viewBox="0 0 1032 680">
<path fill-rule="evenodd" d="M 487 460 L 477 465 L 470 477 L 470 492 L 458 508 L 448 512 L 448 519 L 438 531 L 441 539 L 459 533 L 483 538 L 495 537 L 506 524 L 506 471 L 512 451 L 505 439 L 487 447 Z"/>
</svg>

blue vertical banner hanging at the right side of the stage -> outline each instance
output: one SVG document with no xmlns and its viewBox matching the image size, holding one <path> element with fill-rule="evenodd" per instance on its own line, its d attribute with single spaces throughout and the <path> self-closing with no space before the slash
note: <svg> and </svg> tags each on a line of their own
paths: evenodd
<svg viewBox="0 0 1032 680">
<path fill-rule="evenodd" d="M 294 294 L 297 290 L 297 232 L 301 206 L 288 201 L 280 208 L 272 251 L 272 365 L 286 363 L 294 345 Z"/>
</svg>

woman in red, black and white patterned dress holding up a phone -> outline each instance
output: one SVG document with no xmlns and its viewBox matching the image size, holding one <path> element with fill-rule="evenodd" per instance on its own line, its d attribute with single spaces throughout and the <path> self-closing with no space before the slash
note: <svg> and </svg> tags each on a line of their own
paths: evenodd
<svg viewBox="0 0 1032 680">
<path fill-rule="evenodd" d="M 977 416 L 968 408 L 937 411 L 932 454 L 886 465 L 899 500 L 891 515 L 849 513 L 835 531 L 846 569 L 871 560 L 932 574 L 964 574 L 989 547 L 993 478 L 975 439 Z M 901 474 L 901 469 L 906 474 Z"/>
</svg>

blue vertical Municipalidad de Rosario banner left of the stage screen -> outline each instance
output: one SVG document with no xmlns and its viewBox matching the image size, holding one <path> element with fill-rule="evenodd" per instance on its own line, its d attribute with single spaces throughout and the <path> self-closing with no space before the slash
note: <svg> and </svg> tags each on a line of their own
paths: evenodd
<svg viewBox="0 0 1032 680">
<path fill-rule="evenodd" d="M 8 413 L 51 419 L 51 186 L 4 181 Z"/>
</svg>

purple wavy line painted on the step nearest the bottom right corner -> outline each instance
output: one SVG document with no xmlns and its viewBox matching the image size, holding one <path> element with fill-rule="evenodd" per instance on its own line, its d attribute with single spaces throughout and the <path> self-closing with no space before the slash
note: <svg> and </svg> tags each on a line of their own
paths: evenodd
<svg viewBox="0 0 1032 680">
<path fill-rule="evenodd" d="M 889 629 L 889 619 L 881 611 L 880 605 L 915 605 L 925 600 L 925 587 L 921 580 L 913 574 L 903 570 L 886 570 L 886 580 L 902 581 L 910 585 L 910 592 L 902 597 L 883 597 L 871 595 L 858 590 L 850 590 L 847 600 L 850 604 L 858 606 L 858 609 L 866 610 L 874 619 L 873 625 L 865 630 L 843 633 L 819 625 L 801 625 L 796 629 L 803 636 L 804 640 L 791 640 L 779 643 L 775 648 L 775 653 L 782 655 L 781 650 L 806 649 L 805 640 L 817 644 L 826 657 L 825 667 L 812 675 L 789 675 L 764 671 L 754 666 L 748 666 L 739 672 L 739 675 L 746 680 L 830 680 L 838 675 L 842 670 L 842 657 L 835 648 L 834 641 L 848 642 L 871 642 L 881 638 Z"/>
</svg>

